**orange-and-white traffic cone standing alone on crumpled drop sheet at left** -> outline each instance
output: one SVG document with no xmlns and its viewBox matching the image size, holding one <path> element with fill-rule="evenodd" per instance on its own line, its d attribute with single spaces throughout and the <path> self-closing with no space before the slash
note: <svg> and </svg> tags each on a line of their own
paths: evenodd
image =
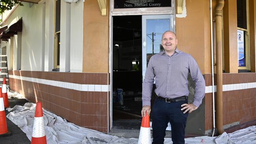
<svg viewBox="0 0 256 144">
<path fill-rule="evenodd" d="M 47 144 L 42 103 L 37 102 L 31 144 Z"/>
</svg>

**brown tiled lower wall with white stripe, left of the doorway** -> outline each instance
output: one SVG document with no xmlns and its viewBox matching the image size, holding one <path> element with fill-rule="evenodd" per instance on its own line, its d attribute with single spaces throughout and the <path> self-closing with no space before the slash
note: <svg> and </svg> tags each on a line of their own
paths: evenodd
<svg viewBox="0 0 256 144">
<path fill-rule="evenodd" d="M 108 73 L 9 70 L 9 85 L 69 122 L 108 132 Z"/>
</svg>

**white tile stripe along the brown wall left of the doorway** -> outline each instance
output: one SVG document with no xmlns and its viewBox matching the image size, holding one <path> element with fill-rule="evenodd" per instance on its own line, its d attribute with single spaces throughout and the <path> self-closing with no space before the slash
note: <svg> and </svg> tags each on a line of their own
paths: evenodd
<svg viewBox="0 0 256 144">
<path fill-rule="evenodd" d="M 110 85 L 84 85 L 78 83 L 67 83 L 63 81 L 53 81 L 48 79 L 29 78 L 24 76 L 14 76 L 9 74 L 9 78 L 20 79 L 23 81 L 30 81 L 35 83 L 42 83 L 45 85 L 52 85 L 55 87 L 62 87 L 66 89 L 74 89 L 79 91 L 93 91 L 93 92 L 109 92 Z"/>
</svg>

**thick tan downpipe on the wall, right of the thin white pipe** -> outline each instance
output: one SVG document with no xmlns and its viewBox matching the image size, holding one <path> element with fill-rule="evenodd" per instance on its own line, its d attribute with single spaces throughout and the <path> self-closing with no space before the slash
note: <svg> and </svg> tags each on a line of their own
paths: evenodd
<svg viewBox="0 0 256 144">
<path fill-rule="evenodd" d="M 222 17 L 224 0 L 219 0 L 216 10 L 216 73 L 217 73 L 217 130 L 219 134 L 223 129 L 223 74 L 222 74 Z"/>
</svg>

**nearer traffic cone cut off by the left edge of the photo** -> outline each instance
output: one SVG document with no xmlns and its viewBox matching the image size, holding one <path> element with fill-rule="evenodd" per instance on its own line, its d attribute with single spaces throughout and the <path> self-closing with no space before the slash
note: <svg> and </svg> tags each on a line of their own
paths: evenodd
<svg viewBox="0 0 256 144">
<path fill-rule="evenodd" d="M 4 100 L 2 90 L 0 89 L 0 137 L 10 135 L 11 132 L 7 129 L 6 112 L 4 111 Z"/>
</svg>

